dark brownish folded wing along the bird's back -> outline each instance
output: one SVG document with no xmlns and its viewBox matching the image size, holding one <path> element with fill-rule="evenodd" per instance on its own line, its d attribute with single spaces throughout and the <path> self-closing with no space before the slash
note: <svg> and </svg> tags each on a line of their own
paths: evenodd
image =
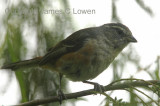
<svg viewBox="0 0 160 106">
<path fill-rule="evenodd" d="M 51 48 L 49 52 L 41 59 L 39 65 L 45 65 L 47 63 L 54 64 L 56 60 L 64 54 L 79 50 L 87 38 L 94 37 L 94 31 L 95 28 L 87 28 L 73 33 Z"/>
</svg>

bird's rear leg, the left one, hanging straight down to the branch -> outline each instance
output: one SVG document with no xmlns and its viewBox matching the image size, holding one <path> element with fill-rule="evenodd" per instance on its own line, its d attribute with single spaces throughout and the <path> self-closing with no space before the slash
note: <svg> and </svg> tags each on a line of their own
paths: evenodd
<svg viewBox="0 0 160 106">
<path fill-rule="evenodd" d="M 60 104 L 62 103 L 63 99 L 66 99 L 66 96 L 64 95 L 63 91 L 61 90 L 61 86 L 62 86 L 62 77 L 63 75 L 61 73 L 59 73 L 59 89 L 58 89 L 58 96 L 59 96 L 59 102 Z"/>
</svg>

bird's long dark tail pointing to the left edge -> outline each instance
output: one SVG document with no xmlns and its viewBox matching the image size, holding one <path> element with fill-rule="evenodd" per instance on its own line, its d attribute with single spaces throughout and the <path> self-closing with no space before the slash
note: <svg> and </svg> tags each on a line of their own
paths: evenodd
<svg viewBox="0 0 160 106">
<path fill-rule="evenodd" d="M 1 69 L 16 70 L 19 68 L 30 68 L 30 67 L 38 66 L 40 60 L 41 60 L 41 57 L 36 57 L 34 59 L 24 60 L 24 61 L 19 61 L 19 62 L 4 65 L 1 67 Z"/>
</svg>

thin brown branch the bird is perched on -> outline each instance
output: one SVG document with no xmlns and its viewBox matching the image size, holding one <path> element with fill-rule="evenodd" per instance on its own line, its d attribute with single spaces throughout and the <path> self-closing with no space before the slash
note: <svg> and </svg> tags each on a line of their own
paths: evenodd
<svg viewBox="0 0 160 106">
<path fill-rule="evenodd" d="M 131 80 L 133 80 L 133 79 L 131 79 Z M 104 86 L 104 88 L 105 88 L 105 91 L 111 91 L 111 90 L 123 90 L 125 88 L 131 88 L 131 87 L 148 87 L 149 85 L 160 85 L 160 80 L 149 80 L 149 81 L 137 80 L 137 81 L 133 81 L 133 82 L 124 82 L 121 84 L 111 83 L 109 85 Z M 67 98 L 65 100 L 76 99 L 78 97 L 92 95 L 92 94 L 96 94 L 94 89 L 65 94 L 65 96 Z M 34 106 L 34 105 L 42 105 L 42 104 L 51 103 L 51 102 L 58 102 L 58 101 L 59 101 L 58 96 L 51 96 L 51 97 L 44 98 L 44 99 L 37 99 L 37 100 L 32 100 L 29 102 L 21 103 L 16 106 Z"/>
</svg>

